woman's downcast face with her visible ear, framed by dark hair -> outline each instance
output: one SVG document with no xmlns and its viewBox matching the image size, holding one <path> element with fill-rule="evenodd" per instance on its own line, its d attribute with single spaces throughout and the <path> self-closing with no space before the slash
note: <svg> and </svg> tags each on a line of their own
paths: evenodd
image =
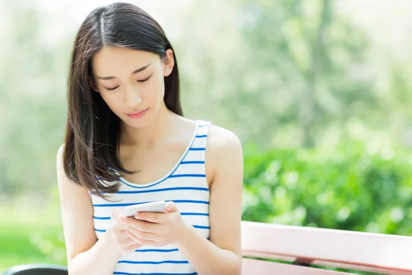
<svg viewBox="0 0 412 275">
<path fill-rule="evenodd" d="M 162 61 L 152 52 L 108 46 L 93 56 L 91 65 L 91 86 L 127 125 L 144 127 L 165 108 L 164 77 L 172 72 L 172 50 Z"/>
</svg>

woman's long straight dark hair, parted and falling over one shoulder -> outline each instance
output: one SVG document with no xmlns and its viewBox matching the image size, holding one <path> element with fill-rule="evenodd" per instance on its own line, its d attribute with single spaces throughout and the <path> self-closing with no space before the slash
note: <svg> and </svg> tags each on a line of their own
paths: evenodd
<svg viewBox="0 0 412 275">
<path fill-rule="evenodd" d="M 104 192 L 119 190 L 119 175 L 134 173 L 118 157 L 120 119 L 93 91 L 91 58 L 104 45 L 127 47 L 158 54 L 173 50 L 163 29 L 141 8 L 130 3 L 112 3 L 95 8 L 84 19 L 71 51 L 67 81 L 67 128 L 63 165 L 69 179 L 106 199 Z M 179 70 L 173 51 L 172 73 L 164 78 L 165 105 L 183 115 L 180 104 Z M 105 184 L 104 181 L 117 181 Z"/>
</svg>

